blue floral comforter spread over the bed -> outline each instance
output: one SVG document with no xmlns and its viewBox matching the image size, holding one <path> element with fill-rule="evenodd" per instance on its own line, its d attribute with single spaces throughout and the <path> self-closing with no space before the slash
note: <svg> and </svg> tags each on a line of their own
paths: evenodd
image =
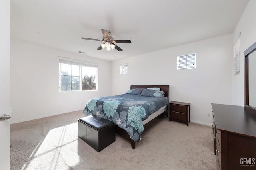
<svg viewBox="0 0 256 170">
<path fill-rule="evenodd" d="M 146 97 L 132 94 L 96 97 L 84 107 L 84 115 L 97 115 L 126 130 L 130 138 L 139 142 L 144 130 L 142 121 L 168 104 L 166 97 Z"/>
</svg>

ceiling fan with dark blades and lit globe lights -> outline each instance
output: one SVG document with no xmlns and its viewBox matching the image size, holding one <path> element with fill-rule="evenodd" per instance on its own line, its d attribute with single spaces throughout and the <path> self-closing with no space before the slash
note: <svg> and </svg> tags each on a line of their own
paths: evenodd
<svg viewBox="0 0 256 170">
<path fill-rule="evenodd" d="M 94 39 L 94 38 L 84 38 L 84 37 L 82 37 L 82 39 L 104 42 L 97 49 L 101 50 L 101 49 L 104 49 L 106 47 L 107 51 L 110 51 L 112 49 L 117 49 L 118 51 L 123 51 L 120 47 L 118 47 L 114 43 L 132 43 L 131 40 L 114 40 L 114 38 L 112 36 L 110 36 L 110 34 L 111 34 L 110 31 L 104 30 L 104 29 L 101 29 L 101 31 L 103 33 L 103 39 L 102 40 Z"/>
</svg>

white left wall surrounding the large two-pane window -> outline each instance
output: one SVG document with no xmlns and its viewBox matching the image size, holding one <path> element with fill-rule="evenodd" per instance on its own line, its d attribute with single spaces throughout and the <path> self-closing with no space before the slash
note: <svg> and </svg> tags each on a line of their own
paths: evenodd
<svg viewBox="0 0 256 170">
<path fill-rule="evenodd" d="M 98 63 L 98 91 L 59 92 L 58 56 Z M 10 67 L 11 123 L 82 110 L 89 99 L 110 95 L 109 61 L 12 38 Z"/>
</svg>

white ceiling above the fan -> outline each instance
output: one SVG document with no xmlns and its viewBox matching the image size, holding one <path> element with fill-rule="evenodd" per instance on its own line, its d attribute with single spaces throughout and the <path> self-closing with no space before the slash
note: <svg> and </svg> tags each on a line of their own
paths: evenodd
<svg viewBox="0 0 256 170">
<path fill-rule="evenodd" d="M 109 61 L 234 31 L 249 0 L 11 0 L 11 37 Z M 123 49 L 97 50 L 101 29 Z M 39 32 L 36 34 L 35 32 Z"/>
</svg>

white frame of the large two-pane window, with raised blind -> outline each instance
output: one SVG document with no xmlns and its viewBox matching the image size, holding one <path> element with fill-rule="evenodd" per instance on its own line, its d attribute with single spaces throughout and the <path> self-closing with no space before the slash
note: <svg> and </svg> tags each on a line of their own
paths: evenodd
<svg viewBox="0 0 256 170">
<path fill-rule="evenodd" d="M 98 91 L 98 64 L 96 63 L 88 63 L 88 62 L 84 62 L 84 61 L 80 61 L 80 60 L 75 60 L 75 59 L 68 59 L 68 58 L 64 58 L 64 57 L 58 57 L 59 59 L 59 92 L 70 92 L 70 91 Z M 79 66 L 79 79 L 80 79 L 80 83 L 79 83 L 79 90 L 61 90 L 61 64 L 69 64 L 69 65 L 76 65 Z M 92 67 L 96 69 L 96 79 L 95 79 L 95 83 L 96 83 L 96 89 L 94 90 L 82 90 L 82 67 Z M 72 77 L 72 72 L 70 77 Z M 78 76 L 74 76 L 74 77 L 78 77 Z M 71 79 L 72 80 L 72 79 Z M 72 84 L 71 84 L 72 85 Z"/>
</svg>

